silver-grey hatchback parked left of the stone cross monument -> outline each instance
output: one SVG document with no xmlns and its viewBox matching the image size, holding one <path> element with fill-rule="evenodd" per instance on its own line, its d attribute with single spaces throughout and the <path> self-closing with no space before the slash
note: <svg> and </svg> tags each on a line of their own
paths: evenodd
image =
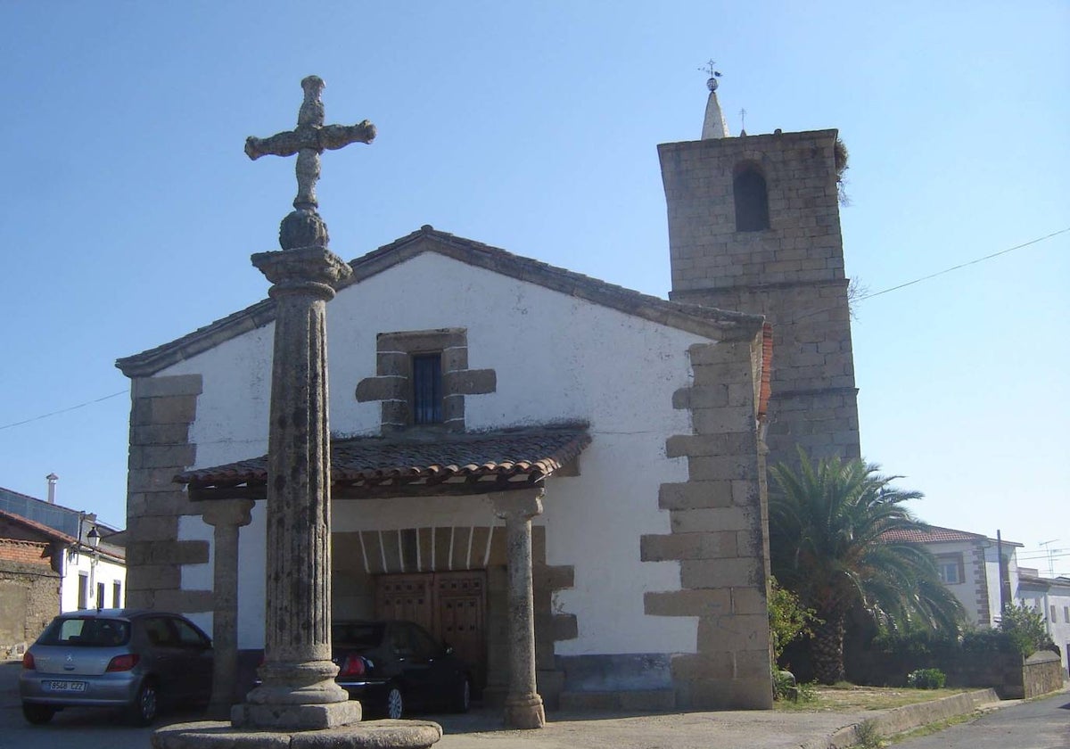
<svg viewBox="0 0 1070 749">
<path fill-rule="evenodd" d="M 31 723 L 47 723 L 64 707 L 118 707 L 148 725 L 160 703 L 208 703 L 212 641 L 179 614 L 61 614 L 24 656 L 18 691 Z"/>
</svg>

